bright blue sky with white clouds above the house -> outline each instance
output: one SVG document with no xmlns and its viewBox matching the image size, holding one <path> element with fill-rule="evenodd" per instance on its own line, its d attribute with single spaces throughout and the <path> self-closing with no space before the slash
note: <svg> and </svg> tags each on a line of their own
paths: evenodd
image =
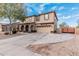
<svg viewBox="0 0 79 59">
<path fill-rule="evenodd" d="M 78 3 L 28 3 L 27 15 L 38 15 L 50 11 L 56 11 L 58 24 L 66 22 L 69 26 L 75 27 L 79 20 L 79 4 Z"/>
</svg>

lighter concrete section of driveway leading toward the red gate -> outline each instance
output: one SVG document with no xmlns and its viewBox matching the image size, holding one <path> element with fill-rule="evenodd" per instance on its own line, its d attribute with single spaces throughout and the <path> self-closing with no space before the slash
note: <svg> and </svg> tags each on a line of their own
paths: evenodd
<svg viewBox="0 0 79 59">
<path fill-rule="evenodd" d="M 57 43 L 57 42 L 71 40 L 74 38 L 75 38 L 74 34 L 48 34 L 32 44 Z"/>
</svg>

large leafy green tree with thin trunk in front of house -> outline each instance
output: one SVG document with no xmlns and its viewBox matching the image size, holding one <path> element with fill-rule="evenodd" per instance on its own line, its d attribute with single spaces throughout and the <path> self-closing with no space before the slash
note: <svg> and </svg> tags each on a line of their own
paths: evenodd
<svg viewBox="0 0 79 59">
<path fill-rule="evenodd" d="M 12 20 L 21 20 L 25 19 L 25 11 L 23 4 L 20 3 L 2 3 L 0 4 L 0 17 L 8 18 L 10 21 L 10 34 L 12 33 Z"/>
</svg>

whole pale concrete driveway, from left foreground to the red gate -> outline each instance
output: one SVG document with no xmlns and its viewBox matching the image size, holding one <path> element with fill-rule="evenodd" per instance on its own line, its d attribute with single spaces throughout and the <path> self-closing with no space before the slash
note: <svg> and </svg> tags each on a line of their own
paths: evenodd
<svg viewBox="0 0 79 59">
<path fill-rule="evenodd" d="M 1 56 L 39 56 L 26 46 L 40 43 L 56 43 L 75 38 L 73 34 L 27 33 L 22 36 L 0 40 Z"/>
</svg>

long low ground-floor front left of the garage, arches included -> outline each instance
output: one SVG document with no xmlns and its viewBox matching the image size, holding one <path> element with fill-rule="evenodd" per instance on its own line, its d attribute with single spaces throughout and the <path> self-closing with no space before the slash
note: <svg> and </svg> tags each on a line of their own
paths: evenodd
<svg viewBox="0 0 79 59">
<path fill-rule="evenodd" d="M 11 28 L 10 28 L 11 27 Z M 2 32 L 10 33 L 11 32 L 36 32 L 36 24 L 35 23 L 13 23 L 2 25 Z"/>
</svg>

